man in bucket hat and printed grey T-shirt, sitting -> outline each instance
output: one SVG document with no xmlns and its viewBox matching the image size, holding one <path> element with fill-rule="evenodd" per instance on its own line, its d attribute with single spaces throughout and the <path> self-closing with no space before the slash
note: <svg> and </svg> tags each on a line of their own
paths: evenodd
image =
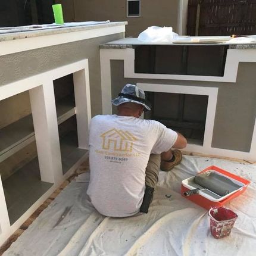
<svg viewBox="0 0 256 256">
<path fill-rule="evenodd" d="M 139 118 L 150 108 L 137 86 L 124 86 L 112 103 L 117 115 L 96 115 L 90 121 L 87 193 L 104 216 L 148 213 L 159 169 L 170 171 L 179 164 L 182 153 L 171 148 L 185 148 L 187 142 L 158 121 Z"/>
</svg>

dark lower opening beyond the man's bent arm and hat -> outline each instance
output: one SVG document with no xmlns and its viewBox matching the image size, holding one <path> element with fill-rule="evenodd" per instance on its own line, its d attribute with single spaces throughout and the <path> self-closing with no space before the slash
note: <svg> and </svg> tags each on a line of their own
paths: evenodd
<svg viewBox="0 0 256 256">
<path fill-rule="evenodd" d="M 144 118 L 160 121 L 182 133 L 188 143 L 203 144 L 208 96 L 164 92 L 146 94 L 152 107 Z"/>
</svg>

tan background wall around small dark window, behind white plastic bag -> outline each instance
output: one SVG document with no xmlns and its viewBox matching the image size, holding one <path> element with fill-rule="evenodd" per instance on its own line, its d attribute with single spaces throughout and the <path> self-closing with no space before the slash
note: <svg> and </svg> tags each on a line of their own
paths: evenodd
<svg viewBox="0 0 256 256">
<path fill-rule="evenodd" d="M 65 1 L 59 1 L 65 6 Z M 65 7 L 64 7 L 65 8 Z M 65 8 L 66 9 L 66 8 Z M 73 8 L 70 9 L 70 13 Z M 76 21 L 128 21 L 126 37 L 137 37 L 149 26 L 173 27 L 177 32 L 178 0 L 141 0 L 141 17 L 126 17 L 126 0 L 75 0 Z M 65 12 L 67 12 L 65 10 Z M 66 14 L 70 19 L 70 13 Z"/>
</svg>

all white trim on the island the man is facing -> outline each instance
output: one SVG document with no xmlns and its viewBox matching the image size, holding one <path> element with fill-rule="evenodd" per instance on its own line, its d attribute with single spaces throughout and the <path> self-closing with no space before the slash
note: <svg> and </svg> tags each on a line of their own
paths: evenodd
<svg viewBox="0 0 256 256">
<path fill-rule="evenodd" d="M 255 49 L 228 49 L 227 61 L 223 77 L 208 77 L 208 76 L 183 76 L 183 75 L 168 75 L 168 74 L 135 74 L 134 60 L 135 51 L 132 48 L 127 49 L 101 49 L 101 91 L 102 91 L 102 113 L 111 114 L 111 60 L 124 61 L 124 78 L 141 78 L 141 79 L 173 79 L 173 80 L 199 80 L 210 82 L 236 82 L 239 62 L 256 62 Z M 215 120 L 217 88 L 203 86 L 186 86 L 186 85 L 156 85 L 138 83 L 142 89 L 163 92 L 190 93 L 208 95 L 207 123 L 205 125 L 204 143 L 202 146 L 189 144 L 186 148 L 188 151 L 199 152 L 203 154 L 222 155 L 224 157 L 239 158 L 250 161 L 256 161 L 256 122 L 251 141 L 251 149 L 249 152 L 234 151 L 230 149 L 212 148 L 211 141 L 213 137 L 213 125 Z M 147 86 L 145 86 L 147 85 Z"/>
</svg>

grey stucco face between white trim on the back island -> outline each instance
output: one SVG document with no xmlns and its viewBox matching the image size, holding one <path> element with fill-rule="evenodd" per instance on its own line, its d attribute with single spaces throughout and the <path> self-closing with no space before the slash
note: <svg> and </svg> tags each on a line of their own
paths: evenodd
<svg viewBox="0 0 256 256">
<path fill-rule="evenodd" d="M 249 152 L 256 116 L 256 63 L 240 63 L 236 83 L 197 82 L 157 79 L 125 79 L 123 61 L 111 61 L 113 98 L 126 83 L 163 83 L 169 85 L 208 86 L 218 88 L 213 130 L 214 148 Z M 113 108 L 115 113 L 115 108 Z"/>
</svg>

